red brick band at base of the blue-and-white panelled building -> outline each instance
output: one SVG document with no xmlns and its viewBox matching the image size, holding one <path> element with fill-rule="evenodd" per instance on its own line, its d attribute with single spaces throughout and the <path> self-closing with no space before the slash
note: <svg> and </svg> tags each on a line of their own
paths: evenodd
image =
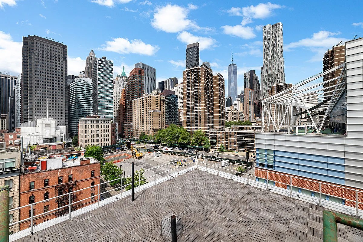
<svg viewBox="0 0 363 242">
<path fill-rule="evenodd" d="M 265 169 L 256 168 L 255 170 L 256 177 L 261 177 L 267 179 L 267 172 Z M 354 190 L 359 190 L 358 192 L 358 201 L 363 202 L 363 190 L 352 188 L 349 186 L 338 185 L 331 182 L 319 181 L 311 178 L 301 177 L 293 175 L 291 179 L 292 186 L 296 186 L 299 188 L 303 188 L 306 190 L 311 190 L 314 192 L 319 192 L 319 182 L 323 182 L 321 184 L 321 192 L 324 194 L 328 194 L 334 197 L 342 197 L 345 199 L 355 200 L 356 193 Z M 286 184 L 290 184 L 290 175 L 287 173 L 269 171 L 269 180 L 275 181 L 275 185 L 281 188 L 286 189 Z M 281 182 L 281 183 L 280 183 Z M 350 190 L 354 189 L 354 190 Z M 355 202 L 345 201 L 345 205 L 355 207 Z M 363 204 L 358 204 L 359 209 L 363 209 Z"/>
</svg>

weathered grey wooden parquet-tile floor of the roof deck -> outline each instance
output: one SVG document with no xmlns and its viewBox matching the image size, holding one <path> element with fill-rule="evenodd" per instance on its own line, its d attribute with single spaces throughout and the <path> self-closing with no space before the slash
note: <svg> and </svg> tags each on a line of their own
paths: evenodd
<svg viewBox="0 0 363 242">
<path fill-rule="evenodd" d="M 319 242 L 321 206 L 200 170 L 119 199 L 17 242 L 156 242 L 161 220 L 181 217 L 180 242 Z M 363 241 L 363 231 L 338 226 L 339 241 Z"/>
</svg>

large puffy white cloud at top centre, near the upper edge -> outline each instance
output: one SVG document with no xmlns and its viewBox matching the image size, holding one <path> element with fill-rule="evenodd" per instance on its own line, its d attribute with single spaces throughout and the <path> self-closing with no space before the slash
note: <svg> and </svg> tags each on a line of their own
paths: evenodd
<svg viewBox="0 0 363 242">
<path fill-rule="evenodd" d="M 189 10 L 196 9 L 193 4 L 188 6 L 188 8 L 184 8 L 179 5 L 168 4 L 156 8 L 154 18 L 151 20 L 151 26 L 167 33 L 177 33 L 187 29 L 211 30 L 209 27 L 200 27 L 194 21 L 188 19 Z"/>
</svg>

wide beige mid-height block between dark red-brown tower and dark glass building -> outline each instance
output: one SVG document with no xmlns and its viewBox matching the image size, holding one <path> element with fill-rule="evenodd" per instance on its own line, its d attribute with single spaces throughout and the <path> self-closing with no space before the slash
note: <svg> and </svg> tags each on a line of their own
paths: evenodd
<svg viewBox="0 0 363 242">
<path fill-rule="evenodd" d="M 165 128 L 165 96 L 156 89 L 151 94 L 132 100 L 132 136 L 140 138 L 155 135 L 158 130 Z"/>
</svg>

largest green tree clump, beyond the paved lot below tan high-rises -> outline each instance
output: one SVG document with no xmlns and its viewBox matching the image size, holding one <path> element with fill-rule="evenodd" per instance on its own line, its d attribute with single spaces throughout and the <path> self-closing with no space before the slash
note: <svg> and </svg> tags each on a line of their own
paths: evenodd
<svg viewBox="0 0 363 242">
<path fill-rule="evenodd" d="M 159 130 L 154 135 L 154 141 L 156 143 L 162 143 L 168 146 L 173 146 L 174 144 L 189 144 L 190 135 L 183 127 L 170 124 L 169 127 Z"/>
</svg>

